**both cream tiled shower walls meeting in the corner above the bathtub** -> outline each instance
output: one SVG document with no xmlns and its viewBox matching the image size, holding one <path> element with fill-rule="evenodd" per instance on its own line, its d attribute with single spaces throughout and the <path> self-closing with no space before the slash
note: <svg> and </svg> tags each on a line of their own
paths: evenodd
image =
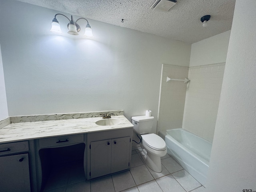
<svg viewBox="0 0 256 192">
<path fill-rule="evenodd" d="M 157 132 L 184 128 L 212 142 L 225 63 L 195 67 L 162 65 Z M 166 78 L 190 80 L 166 82 Z"/>
</svg>

